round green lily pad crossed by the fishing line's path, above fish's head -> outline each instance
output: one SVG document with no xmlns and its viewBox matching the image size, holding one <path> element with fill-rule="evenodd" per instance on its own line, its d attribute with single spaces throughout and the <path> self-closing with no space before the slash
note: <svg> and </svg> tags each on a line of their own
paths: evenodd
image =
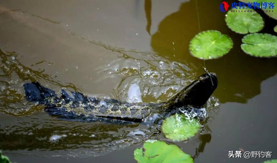
<svg viewBox="0 0 277 163">
<path fill-rule="evenodd" d="M 227 54 L 233 47 L 233 41 L 217 30 L 207 30 L 192 38 L 190 53 L 200 59 L 215 59 Z"/>
</svg>

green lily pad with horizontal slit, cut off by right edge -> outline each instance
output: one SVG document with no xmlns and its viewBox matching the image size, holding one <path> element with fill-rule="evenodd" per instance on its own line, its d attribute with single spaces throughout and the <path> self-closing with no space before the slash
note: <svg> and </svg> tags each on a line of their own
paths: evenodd
<svg viewBox="0 0 277 163">
<path fill-rule="evenodd" d="M 242 39 L 241 49 L 251 56 L 273 57 L 277 55 L 277 36 L 268 33 L 252 33 Z"/>
</svg>

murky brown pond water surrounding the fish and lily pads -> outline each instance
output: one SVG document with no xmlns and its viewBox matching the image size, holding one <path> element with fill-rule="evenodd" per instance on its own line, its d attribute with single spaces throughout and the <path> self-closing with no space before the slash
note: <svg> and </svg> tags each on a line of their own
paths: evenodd
<svg viewBox="0 0 277 163">
<path fill-rule="evenodd" d="M 142 101 L 165 101 L 206 65 L 219 85 L 201 134 L 175 143 L 195 162 L 230 159 L 228 151 L 271 151 L 276 158 L 277 58 L 250 57 L 243 35 L 227 28 L 219 3 L 184 1 L 1 1 L 0 149 L 15 162 L 135 162 L 147 139 L 172 143 L 154 128 L 60 120 L 24 99 L 23 84 L 39 81 L 97 97 L 127 100 L 132 84 Z M 265 19 L 264 33 L 277 22 Z M 220 59 L 194 58 L 189 41 L 204 30 L 229 35 Z M 220 103 L 219 106 L 217 104 Z M 51 141 L 53 135 L 61 135 Z M 53 137 L 52 137 L 53 138 Z"/>
</svg>

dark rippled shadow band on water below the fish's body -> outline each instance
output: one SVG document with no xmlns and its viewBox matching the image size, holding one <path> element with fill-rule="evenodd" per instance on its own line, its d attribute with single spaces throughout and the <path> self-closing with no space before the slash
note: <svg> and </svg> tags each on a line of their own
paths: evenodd
<svg viewBox="0 0 277 163">
<path fill-rule="evenodd" d="M 41 114 L 42 115 L 42 114 Z M 41 116 L 40 117 L 43 117 Z M 122 149 L 144 140 L 128 137 L 128 132 L 137 125 L 106 125 L 87 122 L 61 121 L 52 117 L 43 122 L 31 117 L 16 125 L 0 128 L 0 148 L 2 150 L 66 150 L 93 149 L 88 155 L 99 155 L 113 150 Z M 14 118 L 12 118 L 14 120 Z M 22 119 L 21 119 L 22 120 Z M 30 120 L 29 122 L 26 120 Z M 56 141 L 51 141 L 52 135 L 65 135 Z M 115 136 L 116 135 L 116 136 Z M 146 137 L 147 138 L 147 137 Z M 5 141 L 3 141 L 5 140 Z"/>
</svg>

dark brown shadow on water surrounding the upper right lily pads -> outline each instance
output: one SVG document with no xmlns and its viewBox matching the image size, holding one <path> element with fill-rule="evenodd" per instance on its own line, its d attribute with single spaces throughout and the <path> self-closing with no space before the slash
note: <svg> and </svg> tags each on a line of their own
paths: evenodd
<svg viewBox="0 0 277 163">
<path fill-rule="evenodd" d="M 210 5 L 206 7 L 205 4 Z M 243 35 L 227 28 L 224 21 L 226 13 L 220 12 L 217 4 L 217 1 L 207 0 L 198 3 L 201 30 L 219 30 L 229 35 L 234 47 L 224 57 L 205 61 L 206 68 L 218 76 L 219 85 L 214 95 L 221 103 L 246 103 L 260 94 L 262 81 L 276 75 L 277 58 L 257 58 L 245 54 L 240 47 Z M 260 33 L 275 35 L 272 29 L 277 21 L 262 16 L 265 28 Z M 198 27 L 195 1 L 183 3 L 179 11 L 160 22 L 158 31 L 152 35 L 151 46 L 158 55 L 187 65 L 198 76 L 203 73 L 204 62 L 192 57 L 188 48 L 190 40 L 200 31 Z"/>
</svg>

